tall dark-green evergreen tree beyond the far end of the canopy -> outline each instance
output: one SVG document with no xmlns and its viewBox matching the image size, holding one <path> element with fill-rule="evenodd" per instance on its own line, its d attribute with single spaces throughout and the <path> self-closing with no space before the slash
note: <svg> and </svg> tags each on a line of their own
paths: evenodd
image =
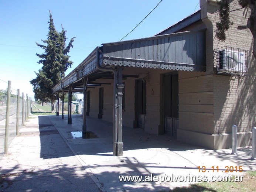
<svg viewBox="0 0 256 192">
<path fill-rule="evenodd" d="M 70 48 L 73 47 L 72 43 L 75 37 L 71 38 L 68 46 L 66 46 L 66 31 L 63 26 L 61 32 L 55 29 L 51 12 L 48 23 L 47 40 L 42 40 L 46 45 L 36 43 L 44 49 L 43 54 L 36 54 L 40 58 L 38 63 L 42 64 L 42 69 L 38 73 L 35 72 L 37 77 L 32 79 L 30 83 L 33 85 L 35 100 L 46 101 L 50 99 L 52 113 L 54 113 L 55 96 L 52 94 L 52 88 L 64 78 L 66 69 L 73 64 L 72 61 L 69 61 L 70 56 L 67 54 Z"/>
</svg>

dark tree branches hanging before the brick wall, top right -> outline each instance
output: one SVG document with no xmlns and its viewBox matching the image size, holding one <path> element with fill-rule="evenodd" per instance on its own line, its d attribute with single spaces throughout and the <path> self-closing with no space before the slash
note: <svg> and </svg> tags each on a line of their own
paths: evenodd
<svg viewBox="0 0 256 192">
<path fill-rule="evenodd" d="M 225 31 L 229 29 L 233 23 L 230 21 L 229 13 L 231 12 L 229 6 L 229 0 L 217 1 L 219 9 L 220 22 L 216 23 L 216 36 L 219 40 L 225 41 Z M 250 8 L 250 17 L 248 18 L 247 25 L 238 26 L 238 30 L 249 28 L 253 35 L 253 55 L 256 58 L 256 0 L 238 0 L 239 5 L 242 8 Z M 236 11 L 236 10 L 232 10 Z"/>
</svg>

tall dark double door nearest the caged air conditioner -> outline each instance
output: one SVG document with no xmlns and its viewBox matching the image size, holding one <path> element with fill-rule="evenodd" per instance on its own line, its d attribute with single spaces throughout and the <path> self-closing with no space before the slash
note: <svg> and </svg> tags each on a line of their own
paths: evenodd
<svg viewBox="0 0 256 192">
<path fill-rule="evenodd" d="M 179 127 L 178 73 L 163 75 L 163 125 L 164 133 L 177 137 Z"/>
</svg>

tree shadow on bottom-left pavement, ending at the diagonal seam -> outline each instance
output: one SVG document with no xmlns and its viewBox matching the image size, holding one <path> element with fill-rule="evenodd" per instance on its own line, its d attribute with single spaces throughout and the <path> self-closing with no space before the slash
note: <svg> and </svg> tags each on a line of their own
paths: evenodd
<svg viewBox="0 0 256 192">
<path fill-rule="evenodd" d="M 1 191 L 99 191 L 86 172 L 76 173 L 81 167 L 70 165 L 56 165 L 47 167 L 33 167 L 24 169 L 16 165 L 11 169 L 1 168 Z M 78 170 L 81 172 L 81 170 Z"/>
</svg>

